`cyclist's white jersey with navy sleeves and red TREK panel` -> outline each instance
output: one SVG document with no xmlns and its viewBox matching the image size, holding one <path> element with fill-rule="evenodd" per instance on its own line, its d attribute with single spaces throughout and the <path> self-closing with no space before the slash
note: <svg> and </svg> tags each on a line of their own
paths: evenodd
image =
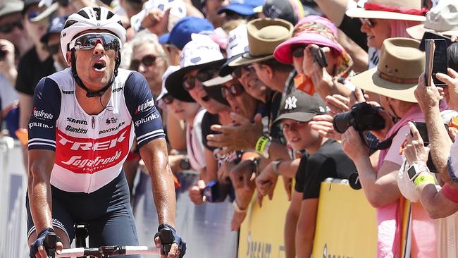
<svg viewBox="0 0 458 258">
<path fill-rule="evenodd" d="M 28 148 L 56 152 L 51 185 L 89 193 L 119 175 L 134 135 L 142 147 L 165 133 L 140 73 L 118 69 L 109 104 L 97 115 L 82 109 L 75 87 L 70 68 L 40 80 L 28 125 Z"/>
</svg>

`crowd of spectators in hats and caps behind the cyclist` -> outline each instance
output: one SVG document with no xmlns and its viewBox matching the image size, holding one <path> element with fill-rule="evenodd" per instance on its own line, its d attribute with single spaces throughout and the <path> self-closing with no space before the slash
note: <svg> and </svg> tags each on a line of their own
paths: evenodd
<svg viewBox="0 0 458 258">
<path fill-rule="evenodd" d="M 458 223 L 435 220 L 458 211 L 458 1 L 3 0 L 0 117 L 25 166 L 35 86 L 70 69 L 61 30 L 84 6 L 122 17 L 120 67 L 147 79 L 173 173 L 199 173 L 196 205 L 229 198 L 232 231 L 285 188 L 285 257 L 310 257 L 321 182 L 356 175 L 377 257 L 400 257 L 405 200 L 411 257 L 447 257 L 440 232 Z M 446 39 L 447 70 L 425 70 L 427 35 Z M 133 147 L 132 194 L 139 166 Z"/>
</svg>

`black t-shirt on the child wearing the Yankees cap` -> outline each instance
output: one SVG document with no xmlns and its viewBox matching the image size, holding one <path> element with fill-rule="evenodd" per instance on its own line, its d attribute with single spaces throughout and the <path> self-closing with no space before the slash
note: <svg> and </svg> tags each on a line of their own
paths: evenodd
<svg viewBox="0 0 458 258">
<path fill-rule="evenodd" d="M 304 184 L 302 189 L 297 186 L 295 189 L 298 192 L 302 190 L 303 199 L 318 198 L 323 180 L 326 178 L 348 179 L 354 171 L 356 167 L 343 152 L 340 143 L 335 140 L 327 140 L 317 152 L 309 154 L 306 158 L 302 157 L 297 174 L 299 173 L 299 180 L 303 180 Z"/>
</svg>

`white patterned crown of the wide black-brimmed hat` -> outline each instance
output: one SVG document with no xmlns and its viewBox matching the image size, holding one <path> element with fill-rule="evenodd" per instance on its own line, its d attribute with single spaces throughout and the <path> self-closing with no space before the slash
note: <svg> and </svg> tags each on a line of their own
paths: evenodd
<svg viewBox="0 0 458 258">
<path fill-rule="evenodd" d="M 208 35 L 192 34 L 191 39 L 181 51 L 180 68 L 224 59 L 218 44 Z"/>
</svg>

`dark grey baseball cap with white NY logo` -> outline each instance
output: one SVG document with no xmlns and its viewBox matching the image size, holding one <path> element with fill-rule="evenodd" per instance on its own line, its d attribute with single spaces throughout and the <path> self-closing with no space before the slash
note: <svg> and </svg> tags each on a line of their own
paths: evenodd
<svg viewBox="0 0 458 258">
<path fill-rule="evenodd" d="M 292 87 L 289 92 L 283 93 L 278 109 L 278 117 L 273 123 L 278 123 L 282 119 L 292 119 L 299 122 L 308 122 L 316 115 L 326 113 L 326 104 L 318 96 L 297 90 Z"/>
</svg>

